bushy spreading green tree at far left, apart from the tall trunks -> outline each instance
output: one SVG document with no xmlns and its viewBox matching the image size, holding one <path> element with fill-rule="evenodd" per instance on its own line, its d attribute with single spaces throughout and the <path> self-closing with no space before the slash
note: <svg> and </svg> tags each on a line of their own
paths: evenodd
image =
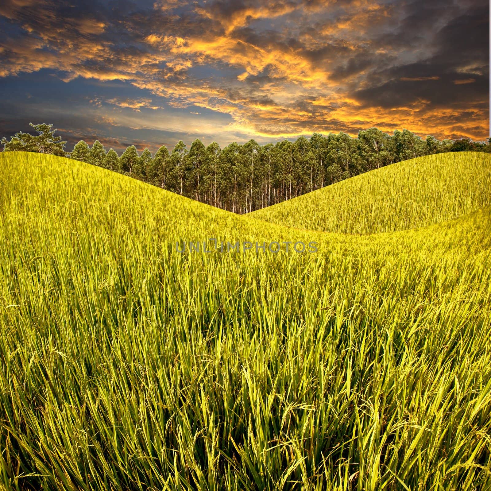
<svg viewBox="0 0 491 491">
<path fill-rule="evenodd" d="M 60 157 L 68 156 L 68 152 L 63 150 L 66 141 L 61 141 L 61 136 L 55 136 L 52 124 L 32 124 L 29 126 L 34 128 L 38 133 L 37 136 L 32 136 L 29 133 L 19 132 L 12 136 L 10 141 L 5 138 L 1 139 L 4 152 L 35 152 L 57 155 Z"/>
</svg>

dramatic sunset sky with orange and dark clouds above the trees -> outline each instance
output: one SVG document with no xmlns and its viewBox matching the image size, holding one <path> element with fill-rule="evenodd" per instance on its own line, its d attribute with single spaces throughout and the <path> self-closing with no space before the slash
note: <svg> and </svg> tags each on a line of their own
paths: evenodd
<svg viewBox="0 0 491 491">
<path fill-rule="evenodd" d="M 0 137 L 67 150 L 489 136 L 488 1 L 3 0 L 0 60 Z"/>
</svg>

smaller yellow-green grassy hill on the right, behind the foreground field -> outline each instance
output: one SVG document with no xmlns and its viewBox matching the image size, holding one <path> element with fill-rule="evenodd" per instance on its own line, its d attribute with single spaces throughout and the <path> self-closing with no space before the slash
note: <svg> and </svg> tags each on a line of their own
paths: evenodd
<svg viewBox="0 0 491 491">
<path fill-rule="evenodd" d="M 252 212 L 308 230 L 370 234 L 419 228 L 491 204 L 491 155 L 451 152 L 391 164 Z"/>
</svg>

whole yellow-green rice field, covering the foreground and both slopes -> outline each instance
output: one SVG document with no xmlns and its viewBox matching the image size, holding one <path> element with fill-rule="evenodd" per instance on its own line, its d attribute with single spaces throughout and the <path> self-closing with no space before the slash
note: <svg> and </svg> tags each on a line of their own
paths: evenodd
<svg viewBox="0 0 491 491">
<path fill-rule="evenodd" d="M 491 489 L 481 159 L 449 154 L 441 180 L 427 157 L 340 183 L 359 187 L 356 210 L 326 229 L 365 234 L 351 235 L 300 229 L 333 210 L 329 189 L 302 197 L 292 228 L 1 153 L 0 487 Z M 418 165 L 424 185 L 407 177 Z M 405 186 L 421 191 L 413 215 L 362 218 Z M 318 250 L 176 251 L 210 238 Z"/>
</svg>

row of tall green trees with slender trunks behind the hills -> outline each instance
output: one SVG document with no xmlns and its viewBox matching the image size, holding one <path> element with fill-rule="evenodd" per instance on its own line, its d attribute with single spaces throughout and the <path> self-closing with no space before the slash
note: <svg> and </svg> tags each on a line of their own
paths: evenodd
<svg viewBox="0 0 491 491">
<path fill-rule="evenodd" d="M 295 141 L 259 145 L 254 139 L 245 144 L 217 142 L 205 146 L 197 138 L 191 147 L 180 140 L 169 152 L 165 145 L 155 154 L 145 148 L 141 155 L 135 145 L 119 156 L 112 148 L 95 140 L 92 146 L 80 140 L 72 152 L 66 141 L 54 136 L 53 125 L 31 126 L 38 136 L 16 133 L 1 143 L 3 151 L 50 153 L 97 165 L 139 179 L 183 196 L 234 213 L 247 213 L 300 196 L 343 179 L 403 160 L 441 152 L 491 152 L 491 138 L 475 142 L 469 138 L 423 139 L 408 130 L 394 135 L 377 128 L 346 133 L 314 133 Z"/>
</svg>

